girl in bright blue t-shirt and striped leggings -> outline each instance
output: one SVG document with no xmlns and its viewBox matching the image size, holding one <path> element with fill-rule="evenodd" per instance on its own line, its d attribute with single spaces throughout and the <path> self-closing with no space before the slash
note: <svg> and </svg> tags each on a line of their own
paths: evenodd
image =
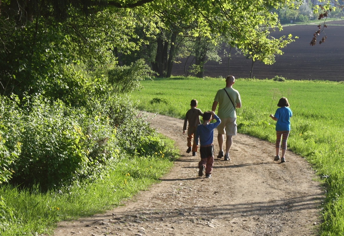
<svg viewBox="0 0 344 236">
<path fill-rule="evenodd" d="M 276 120 L 276 156 L 273 159 L 278 161 L 281 159 L 281 163 L 286 162 L 286 150 L 287 150 L 287 139 L 290 132 L 290 117 L 293 116 L 291 109 L 289 108 L 288 99 L 282 97 L 279 99 L 275 116 L 270 114 L 273 120 Z M 282 139 L 282 158 L 279 156 L 280 143 Z"/>
</svg>

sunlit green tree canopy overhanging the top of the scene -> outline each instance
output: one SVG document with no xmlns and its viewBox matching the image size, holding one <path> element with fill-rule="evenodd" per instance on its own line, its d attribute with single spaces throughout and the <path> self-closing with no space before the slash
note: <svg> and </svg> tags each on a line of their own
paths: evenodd
<svg viewBox="0 0 344 236">
<path fill-rule="evenodd" d="M 281 48 L 292 42 L 291 36 L 270 35 L 281 30 L 278 15 L 271 10 L 286 6 L 297 4 L 291 0 L 1 0 L 0 90 L 33 93 L 56 85 L 66 90 L 72 83 L 66 71 L 76 63 L 96 70 L 117 64 L 120 55 L 136 54 L 137 59 L 150 58 L 152 65 L 172 65 L 175 51 L 182 46 L 175 43 L 197 38 L 213 45 L 222 38 L 253 60 L 273 63 Z M 150 48 L 150 54 L 143 55 L 142 48 Z M 158 70 L 163 74 L 167 69 Z"/>
</svg>

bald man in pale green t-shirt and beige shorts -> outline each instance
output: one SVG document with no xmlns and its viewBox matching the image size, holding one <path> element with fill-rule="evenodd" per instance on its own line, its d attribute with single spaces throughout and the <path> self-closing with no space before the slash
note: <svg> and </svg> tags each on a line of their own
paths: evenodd
<svg viewBox="0 0 344 236">
<path fill-rule="evenodd" d="M 220 148 L 217 158 L 225 156 L 224 160 L 229 161 L 229 149 L 232 146 L 232 136 L 237 134 L 236 125 L 236 110 L 235 108 L 241 107 L 240 94 L 232 86 L 235 83 L 235 78 L 228 75 L 226 78 L 226 87 L 217 91 L 212 111 L 215 112 L 217 104 L 217 116 L 221 119 L 221 124 L 217 127 L 218 135 L 217 141 Z M 226 134 L 226 153 L 223 153 L 223 135 Z"/>
</svg>

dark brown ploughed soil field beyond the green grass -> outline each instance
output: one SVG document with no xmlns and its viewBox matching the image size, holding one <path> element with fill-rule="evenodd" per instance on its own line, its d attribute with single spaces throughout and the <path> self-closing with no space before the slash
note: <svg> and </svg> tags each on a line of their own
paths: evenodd
<svg viewBox="0 0 344 236">
<path fill-rule="evenodd" d="M 266 65 L 256 61 L 252 77 L 257 79 L 271 79 L 283 76 L 294 80 L 344 80 L 344 20 L 329 21 L 324 32 L 318 36 L 318 41 L 327 36 L 325 43 L 310 46 L 317 24 L 284 26 L 280 32 L 272 32 L 271 36 L 279 38 L 282 35 L 298 36 L 295 42 L 283 48 L 283 55 L 276 56 L 276 62 Z M 223 51 L 223 50 L 222 50 Z M 229 51 L 229 49 L 227 50 Z M 185 59 L 180 64 L 174 64 L 173 75 L 184 75 Z M 189 61 L 191 61 L 189 59 Z M 229 74 L 236 78 L 249 78 L 251 59 L 236 54 L 232 50 L 229 60 Z M 226 77 L 228 75 L 228 58 L 223 57 L 222 63 L 209 61 L 205 65 L 205 76 Z"/>
</svg>

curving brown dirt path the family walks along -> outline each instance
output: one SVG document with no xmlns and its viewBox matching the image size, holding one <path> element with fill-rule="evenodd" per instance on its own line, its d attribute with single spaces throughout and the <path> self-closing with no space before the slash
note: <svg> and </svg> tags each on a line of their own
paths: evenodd
<svg viewBox="0 0 344 236">
<path fill-rule="evenodd" d="M 185 153 L 183 120 L 158 115 L 150 122 L 182 150 L 172 171 L 123 207 L 61 222 L 55 236 L 317 235 L 323 191 L 302 157 L 287 151 L 286 163 L 274 162 L 273 144 L 239 134 L 232 160 L 215 157 L 206 179 L 198 177 L 199 153 Z M 215 130 L 215 153 L 216 137 Z"/>
</svg>

